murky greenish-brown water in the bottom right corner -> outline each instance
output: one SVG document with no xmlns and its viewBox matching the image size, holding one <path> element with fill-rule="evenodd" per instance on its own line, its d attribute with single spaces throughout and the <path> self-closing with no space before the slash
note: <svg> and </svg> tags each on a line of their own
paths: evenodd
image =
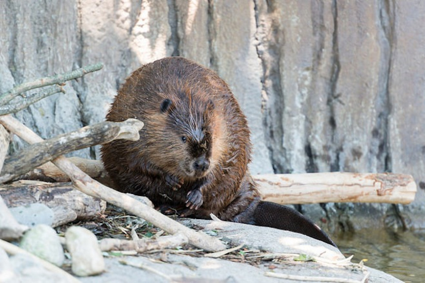
<svg viewBox="0 0 425 283">
<path fill-rule="evenodd" d="M 366 266 L 382 270 L 405 282 L 425 282 L 425 231 L 388 232 L 360 230 L 333 235 L 351 262 L 367 259 Z"/>
</svg>

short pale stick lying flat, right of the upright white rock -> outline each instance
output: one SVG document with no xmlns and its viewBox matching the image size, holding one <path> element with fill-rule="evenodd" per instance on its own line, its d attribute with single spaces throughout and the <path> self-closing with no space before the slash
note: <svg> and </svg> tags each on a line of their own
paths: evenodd
<svg viewBox="0 0 425 283">
<path fill-rule="evenodd" d="M 183 234 L 162 236 L 154 239 L 122 240 L 114 238 L 105 238 L 99 241 L 99 247 L 102 252 L 135 250 L 136 252 L 145 252 L 152 249 L 171 249 L 187 243 L 188 239 Z"/>
</svg>

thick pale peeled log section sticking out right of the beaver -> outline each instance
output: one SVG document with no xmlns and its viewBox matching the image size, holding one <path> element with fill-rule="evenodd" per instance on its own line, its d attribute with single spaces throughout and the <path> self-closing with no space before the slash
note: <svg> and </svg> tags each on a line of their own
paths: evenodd
<svg viewBox="0 0 425 283">
<path fill-rule="evenodd" d="M 253 176 L 263 200 L 279 204 L 319 202 L 413 202 L 411 175 L 394 173 L 307 173 Z"/>
</svg>

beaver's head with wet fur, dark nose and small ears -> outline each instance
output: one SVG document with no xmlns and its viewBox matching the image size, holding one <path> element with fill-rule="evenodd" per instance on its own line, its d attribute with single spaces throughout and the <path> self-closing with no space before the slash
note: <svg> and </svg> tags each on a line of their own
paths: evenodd
<svg viewBox="0 0 425 283">
<path fill-rule="evenodd" d="M 212 149 L 215 137 L 214 103 L 210 100 L 178 95 L 178 99 L 165 98 L 159 105 L 164 115 L 162 130 L 167 136 L 158 143 L 165 151 L 164 168 L 182 178 L 197 179 L 211 170 Z M 157 145 L 158 146 L 158 145 Z M 156 147 L 157 147 L 156 146 Z"/>
</svg>

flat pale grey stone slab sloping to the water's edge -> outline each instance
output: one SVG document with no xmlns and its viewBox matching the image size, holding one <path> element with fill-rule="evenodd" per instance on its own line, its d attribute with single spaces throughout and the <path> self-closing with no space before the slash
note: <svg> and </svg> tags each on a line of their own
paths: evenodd
<svg viewBox="0 0 425 283">
<path fill-rule="evenodd" d="M 270 254 L 308 254 L 323 258 L 324 261 L 262 261 L 260 264 L 234 262 L 221 258 L 194 257 L 164 253 L 158 258 L 147 255 L 106 258 L 106 272 L 91 277 L 80 277 L 86 283 L 103 282 L 291 282 L 294 280 L 267 276 L 274 274 L 339 277 L 361 281 L 369 274 L 369 282 L 386 283 L 402 282 L 395 277 L 376 269 L 365 267 L 363 270 L 356 264 L 338 266 L 331 261 L 341 261 L 341 252 L 321 241 L 305 235 L 268 227 L 257 227 L 224 221 L 208 221 L 199 219 L 181 219 L 185 225 L 195 225 L 210 234 L 216 233 L 233 245 L 244 244 L 248 249 L 261 249 Z M 246 253 L 246 257 L 249 254 Z M 123 264 L 125 261 L 126 264 Z M 141 266 L 141 267 L 135 267 Z M 357 266 L 357 268 L 356 268 Z M 295 282 L 306 282 L 298 280 Z"/>
</svg>

